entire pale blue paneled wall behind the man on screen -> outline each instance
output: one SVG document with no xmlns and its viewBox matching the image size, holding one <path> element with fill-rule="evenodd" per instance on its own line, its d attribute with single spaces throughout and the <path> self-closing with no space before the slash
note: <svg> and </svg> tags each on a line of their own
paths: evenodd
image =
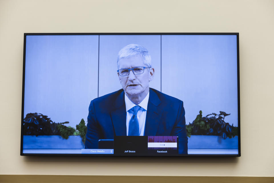
<svg viewBox="0 0 274 183">
<path fill-rule="evenodd" d="M 237 126 L 235 35 L 27 36 L 24 116 L 38 112 L 72 127 L 86 121 L 90 100 L 121 88 L 117 54 L 131 43 L 150 52 L 150 87 L 184 101 L 187 124 L 200 110 L 221 110 Z"/>
</svg>

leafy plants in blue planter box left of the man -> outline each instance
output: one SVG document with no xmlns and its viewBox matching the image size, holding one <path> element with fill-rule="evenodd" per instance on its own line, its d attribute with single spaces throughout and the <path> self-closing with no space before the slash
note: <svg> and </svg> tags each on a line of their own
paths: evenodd
<svg viewBox="0 0 274 183">
<path fill-rule="evenodd" d="M 85 121 L 76 129 L 55 123 L 41 113 L 29 113 L 23 122 L 23 149 L 81 149 L 86 140 Z"/>
</svg>

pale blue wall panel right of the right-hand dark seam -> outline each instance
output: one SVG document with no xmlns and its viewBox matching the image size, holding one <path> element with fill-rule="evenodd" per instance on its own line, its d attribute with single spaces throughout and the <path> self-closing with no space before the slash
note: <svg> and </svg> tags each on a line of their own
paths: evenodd
<svg viewBox="0 0 274 183">
<path fill-rule="evenodd" d="M 162 35 L 162 92 L 184 102 L 186 123 L 230 113 L 238 126 L 236 35 Z"/>
</svg>

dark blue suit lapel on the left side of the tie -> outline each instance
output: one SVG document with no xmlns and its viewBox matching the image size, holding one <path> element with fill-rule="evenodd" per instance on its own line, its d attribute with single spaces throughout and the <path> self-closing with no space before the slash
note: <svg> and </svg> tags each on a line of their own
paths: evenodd
<svg viewBox="0 0 274 183">
<path fill-rule="evenodd" d="M 117 97 L 114 102 L 114 108 L 110 112 L 114 134 L 116 136 L 126 136 L 126 104 L 124 91 Z"/>
</svg>

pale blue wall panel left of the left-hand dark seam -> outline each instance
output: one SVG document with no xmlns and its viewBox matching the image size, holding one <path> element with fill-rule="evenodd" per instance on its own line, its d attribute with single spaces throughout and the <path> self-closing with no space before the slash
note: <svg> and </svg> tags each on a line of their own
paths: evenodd
<svg viewBox="0 0 274 183">
<path fill-rule="evenodd" d="M 97 97 L 98 35 L 27 36 L 24 117 L 42 113 L 75 127 Z"/>
</svg>

